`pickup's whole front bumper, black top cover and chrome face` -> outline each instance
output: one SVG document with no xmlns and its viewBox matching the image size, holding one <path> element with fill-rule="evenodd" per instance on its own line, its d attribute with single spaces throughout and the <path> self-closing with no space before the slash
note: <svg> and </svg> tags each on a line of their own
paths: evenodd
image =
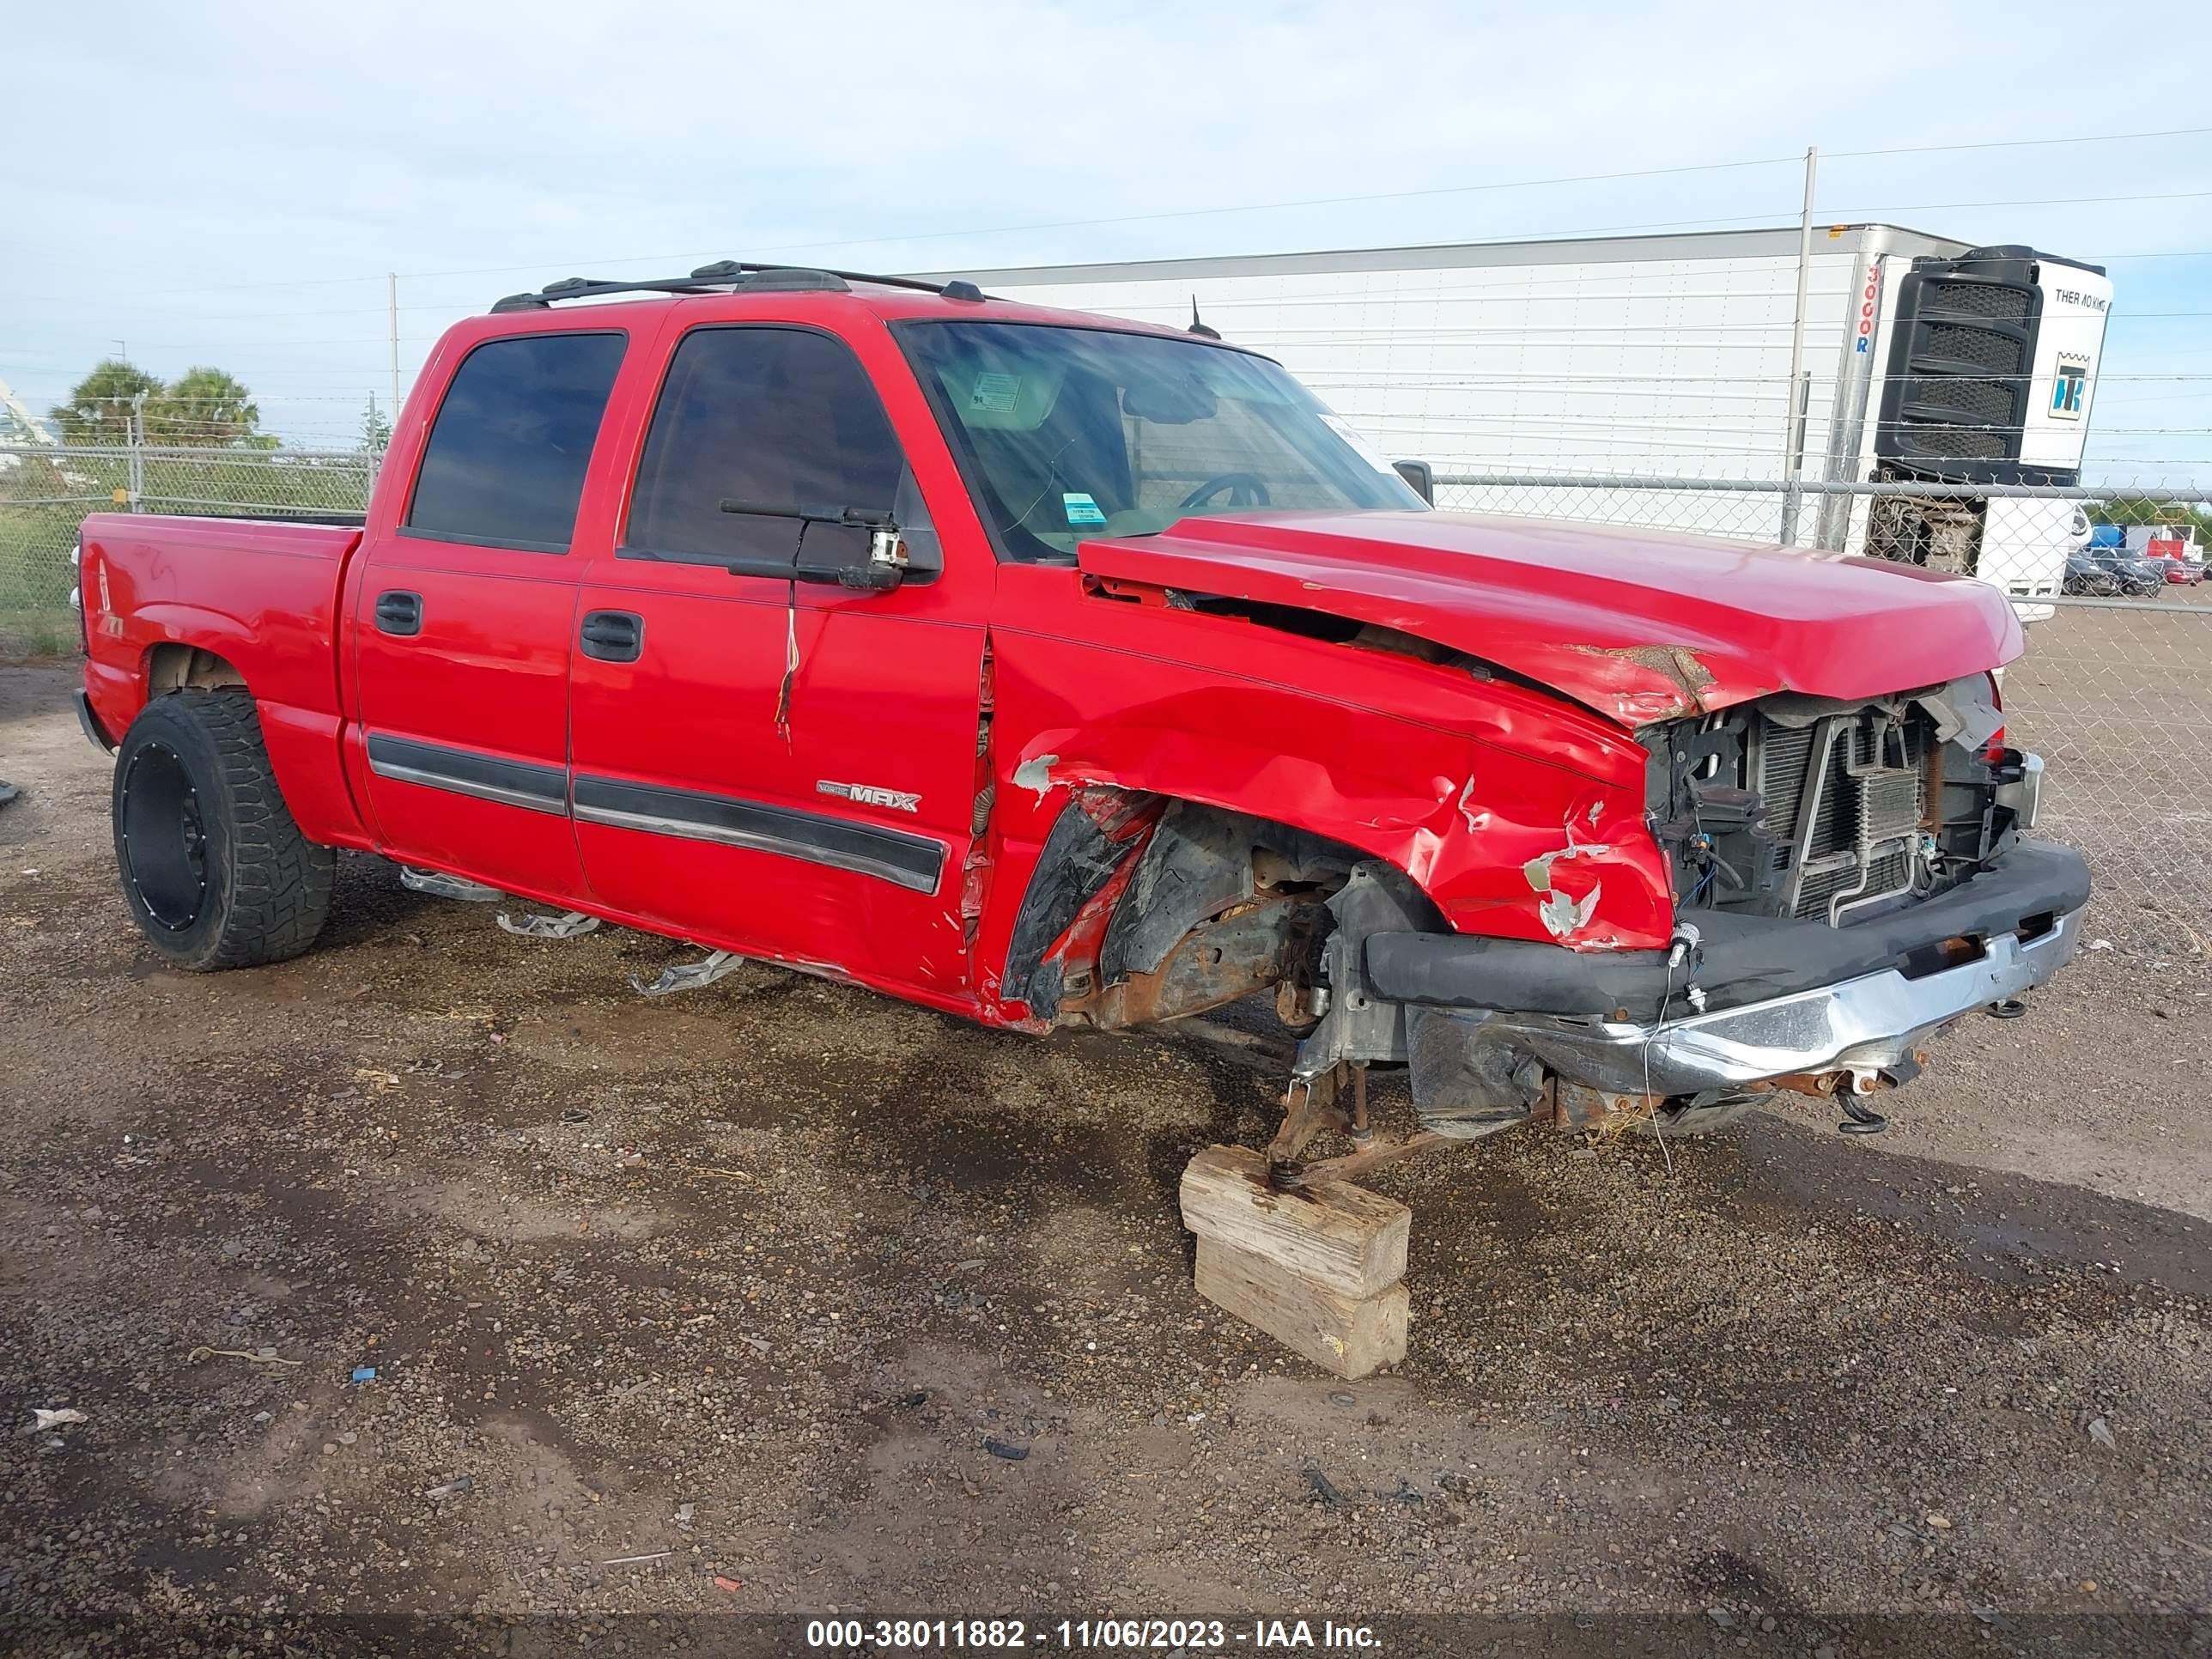
<svg viewBox="0 0 2212 1659">
<path fill-rule="evenodd" d="M 1865 1084 L 2064 967 L 2088 891 L 2079 854 L 2024 841 L 1947 894 L 1849 927 L 1701 914 L 1692 969 L 1666 951 L 1409 929 L 1356 880 L 1332 938 L 1332 982 L 1347 993 L 1298 1071 L 1405 1060 L 1433 1128 L 1524 1117 L 1546 1075 L 1661 1097 L 1823 1073 Z"/>
</svg>

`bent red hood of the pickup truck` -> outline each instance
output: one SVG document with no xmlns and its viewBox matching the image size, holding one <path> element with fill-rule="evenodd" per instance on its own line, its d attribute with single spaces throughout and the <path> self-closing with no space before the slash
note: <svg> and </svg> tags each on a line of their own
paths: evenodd
<svg viewBox="0 0 2212 1659">
<path fill-rule="evenodd" d="M 2020 655 L 1993 586 L 1705 535 L 1471 513 L 1237 513 L 1084 542 L 1082 568 L 1431 639 L 1626 726 L 1778 690 L 1865 699 Z"/>
</svg>

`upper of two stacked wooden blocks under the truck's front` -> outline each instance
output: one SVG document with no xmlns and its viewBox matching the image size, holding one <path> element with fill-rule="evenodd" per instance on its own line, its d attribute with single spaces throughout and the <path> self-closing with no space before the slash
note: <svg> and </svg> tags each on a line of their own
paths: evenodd
<svg viewBox="0 0 2212 1659">
<path fill-rule="evenodd" d="M 1183 1225 L 1199 1239 L 1263 1256 L 1318 1290 L 1358 1301 L 1405 1279 L 1413 1212 L 1380 1192 L 1347 1181 L 1272 1192 L 1265 1157 L 1208 1146 L 1183 1168 L 1181 1199 Z"/>
</svg>

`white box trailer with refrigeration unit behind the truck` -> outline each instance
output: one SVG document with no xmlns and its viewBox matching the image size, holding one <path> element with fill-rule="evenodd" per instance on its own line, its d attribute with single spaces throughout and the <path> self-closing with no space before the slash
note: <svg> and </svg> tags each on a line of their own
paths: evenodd
<svg viewBox="0 0 2212 1659">
<path fill-rule="evenodd" d="M 1774 484 L 2077 484 L 2112 283 L 2033 248 L 1820 226 L 1792 387 L 1798 243 L 1717 230 L 940 276 L 1166 325 L 1194 307 L 1385 453 L 1429 462 L 1453 507 L 1874 553 L 2055 597 L 2088 540 L 2077 502 Z M 1743 480 L 1767 491 L 1712 489 Z"/>
</svg>

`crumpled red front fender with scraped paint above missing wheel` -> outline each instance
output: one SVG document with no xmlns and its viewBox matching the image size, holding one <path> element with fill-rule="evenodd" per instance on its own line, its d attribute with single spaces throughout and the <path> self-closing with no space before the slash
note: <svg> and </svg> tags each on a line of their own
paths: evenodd
<svg viewBox="0 0 2212 1659">
<path fill-rule="evenodd" d="M 1460 708 L 1469 730 L 1447 730 L 1219 668 L 1002 635 L 993 894 L 978 940 L 1002 973 L 978 980 L 1002 1018 L 1051 1018 L 1040 1004 L 1057 1006 L 1066 987 L 1037 973 L 1051 978 L 1075 914 L 1068 847 L 1048 843 L 1077 834 L 1064 827 L 1071 803 L 1102 794 L 1217 807 L 1385 860 L 1458 931 L 1575 951 L 1663 945 L 1672 894 L 1644 825 L 1644 750 L 1526 688 L 1462 692 Z M 1110 874 L 1093 860 L 1075 909 Z M 1044 891 L 1060 905 L 1040 938 Z"/>
</svg>

